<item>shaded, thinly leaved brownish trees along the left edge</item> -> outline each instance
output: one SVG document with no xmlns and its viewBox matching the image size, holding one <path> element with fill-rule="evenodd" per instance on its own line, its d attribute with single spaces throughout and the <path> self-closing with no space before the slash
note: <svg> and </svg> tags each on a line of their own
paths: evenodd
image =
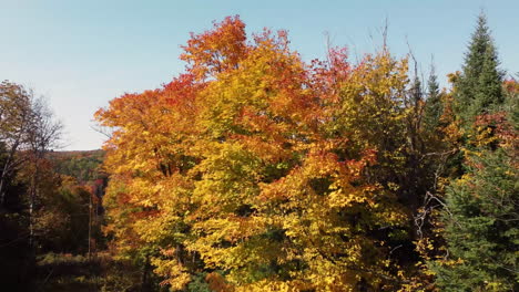
<svg viewBox="0 0 519 292">
<path fill-rule="evenodd" d="M 50 273 L 38 262 L 49 253 L 90 254 L 102 238 L 101 160 L 82 166 L 86 177 L 60 169 L 74 165 L 53 152 L 62 133 L 43 97 L 0 84 L 0 282 L 7 291 L 48 291 L 38 282 Z"/>
</svg>

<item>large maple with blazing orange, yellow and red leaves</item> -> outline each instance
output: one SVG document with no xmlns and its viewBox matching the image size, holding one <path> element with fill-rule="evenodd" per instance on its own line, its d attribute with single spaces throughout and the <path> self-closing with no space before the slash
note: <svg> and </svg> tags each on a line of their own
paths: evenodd
<svg viewBox="0 0 519 292">
<path fill-rule="evenodd" d="M 110 225 L 163 284 L 356 291 L 407 281 L 407 62 L 346 50 L 306 64 L 237 18 L 193 34 L 186 72 L 96 113 Z M 386 137 L 386 138 L 383 138 Z M 220 286 L 220 288 L 218 288 Z"/>
</svg>

